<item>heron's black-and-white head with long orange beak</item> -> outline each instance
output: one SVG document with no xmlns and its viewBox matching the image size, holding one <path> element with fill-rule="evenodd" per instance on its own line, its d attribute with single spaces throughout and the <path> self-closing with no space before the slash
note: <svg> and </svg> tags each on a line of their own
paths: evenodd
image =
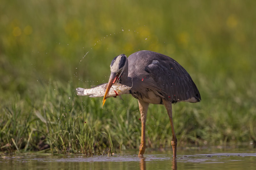
<svg viewBox="0 0 256 170">
<path fill-rule="evenodd" d="M 127 63 L 128 63 L 127 62 L 127 57 L 124 54 L 120 54 L 112 60 L 112 62 L 110 64 L 111 73 L 110 73 L 110 76 L 109 76 L 107 89 L 106 89 L 105 95 L 103 97 L 102 107 L 103 107 L 103 105 L 106 101 L 106 96 L 108 94 L 109 89 L 111 88 L 112 84 L 120 81 L 120 77 L 121 77 Z"/>
</svg>

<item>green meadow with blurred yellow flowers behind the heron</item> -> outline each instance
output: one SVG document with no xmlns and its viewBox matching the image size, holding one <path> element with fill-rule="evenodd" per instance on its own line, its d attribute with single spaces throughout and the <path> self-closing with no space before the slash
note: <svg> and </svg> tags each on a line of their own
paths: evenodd
<svg viewBox="0 0 256 170">
<path fill-rule="evenodd" d="M 75 117 L 79 114 L 83 122 L 92 121 L 90 125 L 79 125 L 84 130 L 89 128 L 95 136 L 88 146 L 91 150 L 108 145 L 139 147 L 140 116 L 135 99 L 128 95 L 125 101 L 111 98 L 101 109 L 101 98 L 75 94 L 76 87 L 107 82 L 115 56 L 129 56 L 139 50 L 163 53 L 177 60 L 201 93 L 202 102 L 173 107 L 178 146 L 255 145 L 255 5 L 254 1 L 240 0 L 2 1 L 1 150 L 35 150 L 43 136 L 51 150 L 56 147 L 58 152 L 64 152 L 65 145 L 66 150 L 78 152 L 75 145 L 85 139 L 77 136 L 77 124 L 71 122 L 78 121 Z M 161 112 L 166 113 L 163 106 L 151 105 L 149 123 Z M 61 115 L 65 114 L 70 116 L 66 120 L 70 127 L 65 122 L 60 126 Z M 169 122 L 162 120 L 165 116 L 151 122 L 164 127 L 148 129 L 148 146 L 170 146 Z M 96 126 L 95 122 L 99 124 Z M 118 130 L 122 123 L 124 127 Z M 72 129 L 71 140 L 68 132 Z M 130 138 L 133 132 L 136 136 Z M 99 139 L 100 134 L 105 134 L 105 140 Z M 81 149 L 84 145 L 86 142 L 79 152 L 86 152 Z"/>
</svg>

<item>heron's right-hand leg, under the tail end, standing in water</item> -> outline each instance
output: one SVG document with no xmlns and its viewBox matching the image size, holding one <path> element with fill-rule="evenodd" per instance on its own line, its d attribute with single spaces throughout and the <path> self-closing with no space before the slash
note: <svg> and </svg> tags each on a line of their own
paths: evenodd
<svg viewBox="0 0 256 170">
<path fill-rule="evenodd" d="M 168 116 L 170 118 L 170 123 L 172 127 L 172 152 L 173 158 L 176 159 L 176 150 L 177 150 L 177 138 L 174 132 L 174 126 L 172 122 L 172 103 L 163 99 L 164 106 L 167 110 Z"/>
</svg>

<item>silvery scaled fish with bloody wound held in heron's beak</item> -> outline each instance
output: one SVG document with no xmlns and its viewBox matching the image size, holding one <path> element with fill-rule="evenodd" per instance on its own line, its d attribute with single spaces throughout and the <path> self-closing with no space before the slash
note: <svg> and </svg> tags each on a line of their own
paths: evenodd
<svg viewBox="0 0 256 170">
<path fill-rule="evenodd" d="M 91 89 L 76 88 L 76 94 L 78 96 L 89 96 L 89 97 L 103 97 L 105 95 L 108 83 L 99 84 L 92 87 Z M 131 87 L 124 84 L 115 83 L 111 86 L 106 98 L 116 97 L 122 94 L 129 94 Z"/>
</svg>

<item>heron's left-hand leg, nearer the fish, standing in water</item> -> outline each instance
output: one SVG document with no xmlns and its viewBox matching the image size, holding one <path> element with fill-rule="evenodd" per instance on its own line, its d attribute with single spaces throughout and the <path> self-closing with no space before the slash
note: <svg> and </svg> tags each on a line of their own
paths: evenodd
<svg viewBox="0 0 256 170">
<path fill-rule="evenodd" d="M 146 149 L 145 127 L 146 127 L 148 103 L 143 102 L 140 99 L 138 99 L 138 101 L 139 101 L 140 117 L 141 117 L 141 143 L 140 143 L 139 157 L 142 157 Z"/>
</svg>

